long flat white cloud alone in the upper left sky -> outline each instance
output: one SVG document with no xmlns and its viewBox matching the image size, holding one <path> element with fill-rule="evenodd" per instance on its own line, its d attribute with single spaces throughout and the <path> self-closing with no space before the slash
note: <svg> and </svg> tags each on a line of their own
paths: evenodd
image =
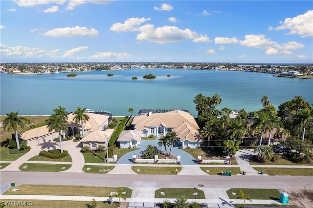
<svg viewBox="0 0 313 208">
<path fill-rule="evenodd" d="M 94 28 L 88 29 L 87 27 L 76 26 L 76 27 L 55 28 L 45 32 L 44 35 L 52 37 L 59 36 L 74 37 L 89 35 L 90 37 L 97 37 L 98 31 Z"/>
</svg>

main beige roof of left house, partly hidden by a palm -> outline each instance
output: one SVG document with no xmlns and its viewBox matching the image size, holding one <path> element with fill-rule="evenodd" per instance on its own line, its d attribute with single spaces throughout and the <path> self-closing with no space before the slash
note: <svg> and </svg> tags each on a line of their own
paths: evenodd
<svg viewBox="0 0 313 208">
<path fill-rule="evenodd" d="M 89 121 L 84 124 L 85 130 L 88 129 L 89 131 L 96 131 L 99 130 L 100 126 L 109 119 L 109 116 L 96 114 L 96 113 L 85 113 L 89 116 Z M 67 121 L 69 122 L 70 126 L 77 126 L 79 127 L 80 124 L 76 124 L 73 121 L 75 115 L 73 113 L 68 114 Z"/>
</svg>

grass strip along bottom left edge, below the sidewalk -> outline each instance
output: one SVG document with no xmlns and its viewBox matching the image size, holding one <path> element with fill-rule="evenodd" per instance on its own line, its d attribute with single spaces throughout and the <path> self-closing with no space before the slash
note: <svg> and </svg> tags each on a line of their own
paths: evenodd
<svg viewBox="0 0 313 208">
<path fill-rule="evenodd" d="M 92 201 L 63 201 L 63 200 L 12 200 L 12 199 L 1 199 L 1 202 L 15 202 L 17 205 L 19 202 L 32 202 L 34 208 L 88 208 L 88 205 L 91 205 Z M 13 205 L 13 204 L 12 204 Z M 5 207 L 9 207 L 9 204 Z M 97 202 L 97 208 L 118 208 L 116 203 L 111 205 L 107 202 Z"/>
</svg>

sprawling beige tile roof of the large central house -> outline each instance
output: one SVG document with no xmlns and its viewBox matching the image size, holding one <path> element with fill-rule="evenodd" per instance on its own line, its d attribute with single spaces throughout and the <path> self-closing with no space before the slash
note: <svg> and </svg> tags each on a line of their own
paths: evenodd
<svg viewBox="0 0 313 208">
<path fill-rule="evenodd" d="M 164 125 L 166 127 L 173 128 L 173 131 L 177 133 L 177 137 L 180 141 L 188 140 L 190 142 L 201 142 L 197 124 L 194 117 L 185 111 L 173 110 L 166 113 L 154 113 L 149 115 L 140 115 L 134 117 L 132 122 L 135 125 L 136 130 L 147 129 L 147 127 L 153 127 L 158 125 Z"/>
</svg>

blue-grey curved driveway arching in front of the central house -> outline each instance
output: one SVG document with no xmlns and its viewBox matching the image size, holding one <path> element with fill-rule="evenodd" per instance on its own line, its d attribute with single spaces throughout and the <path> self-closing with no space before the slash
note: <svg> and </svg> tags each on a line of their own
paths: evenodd
<svg viewBox="0 0 313 208">
<path fill-rule="evenodd" d="M 132 164 L 133 155 L 136 155 L 136 156 L 141 155 L 142 151 L 144 151 L 148 145 L 157 146 L 158 142 L 159 142 L 158 138 L 156 138 L 155 140 L 141 140 L 140 145 L 138 145 L 139 149 L 123 155 L 121 158 L 118 159 L 117 164 Z M 160 150 L 162 152 L 165 152 L 164 146 L 162 146 Z M 167 152 L 169 151 L 170 151 L 170 148 L 167 147 Z M 198 165 L 198 161 L 195 160 L 195 158 L 191 156 L 189 153 L 185 152 L 182 149 L 179 149 L 179 146 L 172 147 L 171 155 L 174 155 L 175 157 L 180 155 L 181 165 Z"/>
</svg>

